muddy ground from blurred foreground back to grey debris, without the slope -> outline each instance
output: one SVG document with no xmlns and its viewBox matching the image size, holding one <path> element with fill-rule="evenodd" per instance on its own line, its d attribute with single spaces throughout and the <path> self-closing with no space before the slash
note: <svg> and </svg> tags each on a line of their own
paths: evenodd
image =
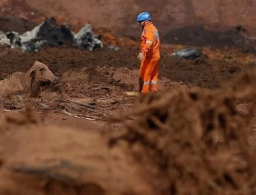
<svg viewBox="0 0 256 195">
<path fill-rule="evenodd" d="M 129 93 L 139 87 L 136 46 L 36 53 L 2 46 L 1 79 L 41 61 L 60 82 L 38 98 L 0 98 L 0 192 L 253 193 L 255 106 L 248 97 L 255 97 L 256 74 L 236 76 L 255 68 L 255 54 L 197 47 L 207 57 L 171 56 L 183 47 L 162 45 L 158 95 L 139 99 Z M 226 81 L 232 87 L 221 88 Z"/>
</svg>

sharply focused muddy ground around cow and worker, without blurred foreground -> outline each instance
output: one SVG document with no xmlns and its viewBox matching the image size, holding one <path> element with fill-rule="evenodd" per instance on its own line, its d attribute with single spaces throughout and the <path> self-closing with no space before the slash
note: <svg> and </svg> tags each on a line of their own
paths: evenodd
<svg viewBox="0 0 256 195">
<path fill-rule="evenodd" d="M 207 57 L 194 61 L 171 56 L 172 52 L 182 47 L 184 46 L 168 44 L 162 46 L 160 93 L 167 89 L 191 87 L 216 89 L 225 81 L 234 79 L 239 73 L 255 68 L 254 54 L 244 53 L 238 48 L 219 50 L 201 47 L 198 49 Z M 19 110 L 29 104 L 38 111 L 48 110 L 59 114 L 64 112 L 69 116 L 75 114 L 76 117 L 77 114 L 83 113 L 87 118 L 91 116 L 93 120 L 105 120 L 110 114 L 130 108 L 134 103 L 134 96 L 127 95 L 126 92 L 139 89 L 138 52 L 136 46 L 121 46 L 118 51 L 103 48 L 94 52 L 63 46 L 25 53 L 2 46 L 1 79 L 15 71 L 28 71 L 34 61 L 46 64 L 61 79 L 58 86 L 50 86 L 41 94 L 43 106 L 40 105 L 40 100 L 26 102 L 14 98 L 15 103 L 11 102 L 12 99 L 5 100 L 4 107 L 7 110 Z M 73 104 L 76 103 L 69 100 L 86 102 L 92 108 L 74 108 Z M 45 106 L 47 108 L 43 108 Z M 77 127 L 77 124 L 75 126 Z"/>
</svg>

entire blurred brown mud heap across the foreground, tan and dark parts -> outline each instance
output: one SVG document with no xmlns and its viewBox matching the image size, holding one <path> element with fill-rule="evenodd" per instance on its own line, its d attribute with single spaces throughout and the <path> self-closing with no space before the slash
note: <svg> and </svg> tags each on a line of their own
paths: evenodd
<svg viewBox="0 0 256 195">
<path fill-rule="evenodd" d="M 254 194 L 255 78 L 146 95 L 111 118 L 124 125 L 114 133 L 43 126 L 29 110 L 2 115 L 0 194 Z M 252 100 L 247 116 L 239 99 Z"/>
</svg>

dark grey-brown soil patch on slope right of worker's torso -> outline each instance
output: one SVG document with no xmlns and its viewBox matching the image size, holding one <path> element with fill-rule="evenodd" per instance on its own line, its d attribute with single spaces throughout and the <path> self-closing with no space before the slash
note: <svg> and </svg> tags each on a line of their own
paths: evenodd
<svg viewBox="0 0 256 195">
<path fill-rule="evenodd" d="M 163 37 L 163 42 L 190 46 L 211 46 L 213 48 L 239 48 L 243 52 L 255 52 L 255 40 L 248 40 L 241 34 L 245 28 L 211 29 L 205 26 L 185 26 L 170 30 Z"/>
</svg>

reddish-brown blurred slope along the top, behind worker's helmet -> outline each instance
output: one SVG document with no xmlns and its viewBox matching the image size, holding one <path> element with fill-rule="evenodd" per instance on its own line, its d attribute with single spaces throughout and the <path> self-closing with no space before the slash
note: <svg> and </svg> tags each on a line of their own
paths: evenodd
<svg viewBox="0 0 256 195">
<path fill-rule="evenodd" d="M 141 11 L 150 11 L 156 25 L 164 34 L 180 26 L 220 24 L 222 26 L 243 25 L 255 29 L 255 1 L 251 0 L 58 0 L 26 2 L 46 15 L 63 16 L 69 21 L 91 22 L 96 28 L 106 27 L 119 34 L 137 36 L 139 29 L 135 17 Z M 100 14 L 94 14 L 100 13 Z M 115 14 L 113 14 L 115 13 Z"/>
</svg>

